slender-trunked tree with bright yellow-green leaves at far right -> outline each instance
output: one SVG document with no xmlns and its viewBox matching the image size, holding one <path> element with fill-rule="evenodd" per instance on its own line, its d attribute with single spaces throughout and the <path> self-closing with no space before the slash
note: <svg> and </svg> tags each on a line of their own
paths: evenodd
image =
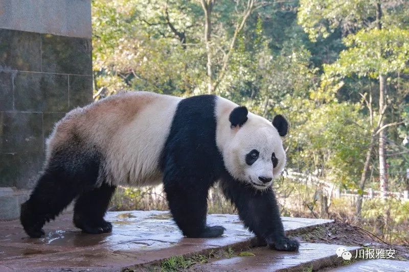
<svg viewBox="0 0 409 272">
<path fill-rule="evenodd" d="M 318 4 L 318 3 L 317 3 Z M 400 121 L 385 124 L 385 112 L 388 104 L 385 101 L 387 77 L 393 77 L 407 69 L 409 57 L 409 32 L 394 24 L 394 12 L 407 3 L 400 1 L 359 1 L 351 0 L 342 3 L 322 1 L 319 6 L 307 5 L 302 1 L 299 22 L 310 35 L 316 39 L 328 36 L 336 28 L 342 28 L 346 35 L 344 44 L 348 47 L 339 54 L 339 58 L 331 65 L 324 65 L 325 73 L 330 76 L 368 77 L 378 79 L 379 102 L 378 122 L 373 127 L 371 141 L 362 170 L 361 191 L 365 186 L 366 175 L 369 169 L 371 150 L 374 137 L 378 137 L 379 180 L 383 192 L 388 189 L 388 176 L 385 158 L 385 129 L 400 124 Z M 385 8 L 386 7 L 386 8 Z M 383 9 L 387 10 L 387 21 L 382 23 Z M 387 9 L 388 8 L 388 9 Z M 316 9 L 322 10 L 320 15 Z M 309 15 L 308 13 L 312 14 Z M 348 15 L 349 14 L 349 15 Z M 375 19 L 374 19 L 375 18 Z M 370 94 L 372 97 L 372 94 Z M 372 103 L 372 100 L 371 100 Z M 372 112 L 372 105 L 367 101 Z M 371 124 L 373 125 L 371 113 Z M 361 192 L 363 193 L 363 192 Z M 358 206 L 360 203 L 358 201 Z M 357 206 L 357 213 L 360 207 Z"/>
</svg>

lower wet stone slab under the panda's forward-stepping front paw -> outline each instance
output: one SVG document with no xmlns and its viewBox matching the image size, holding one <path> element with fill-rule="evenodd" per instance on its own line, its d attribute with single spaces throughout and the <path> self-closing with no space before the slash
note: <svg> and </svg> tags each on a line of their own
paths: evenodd
<svg viewBox="0 0 409 272">
<path fill-rule="evenodd" d="M 342 263 L 336 256 L 341 245 L 301 243 L 299 252 L 279 252 L 267 248 L 253 249 L 254 256 L 236 256 L 192 267 L 197 271 L 312 271 Z M 357 246 L 343 246 L 351 254 Z"/>
</svg>

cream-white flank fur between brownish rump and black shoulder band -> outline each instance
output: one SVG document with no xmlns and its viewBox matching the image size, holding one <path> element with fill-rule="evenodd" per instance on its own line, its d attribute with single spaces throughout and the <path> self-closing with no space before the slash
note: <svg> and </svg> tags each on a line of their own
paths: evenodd
<svg viewBox="0 0 409 272">
<path fill-rule="evenodd" d="M 162 181 L 158 162 L 180 100 L 158 97 L 112 137 L 106 158 L 109 183 L 146 186 Z"/>
</svg>

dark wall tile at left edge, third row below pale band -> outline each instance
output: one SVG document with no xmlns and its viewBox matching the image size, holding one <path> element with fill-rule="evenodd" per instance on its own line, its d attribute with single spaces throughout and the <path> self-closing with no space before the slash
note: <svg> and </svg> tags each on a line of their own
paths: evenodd
<svg viewBox="0 0 409 272">
<path fill-rule="evenodd" d="M 0 153 L 42 151 L 42 113 L 0 112 Z"/>
</svg>

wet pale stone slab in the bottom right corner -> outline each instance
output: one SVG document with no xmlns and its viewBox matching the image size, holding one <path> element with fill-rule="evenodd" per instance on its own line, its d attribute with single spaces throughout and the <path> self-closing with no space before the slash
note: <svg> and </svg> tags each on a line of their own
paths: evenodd
<svg viewBox="0 0 409 272">
<path fill-rule="evenodd" d="M 343 267 L 336 267 L 326 271 L 331 272 L 409 272 L 409 262 L 391 259 L 372 259 L 357 261 Z"/>
</svg>

